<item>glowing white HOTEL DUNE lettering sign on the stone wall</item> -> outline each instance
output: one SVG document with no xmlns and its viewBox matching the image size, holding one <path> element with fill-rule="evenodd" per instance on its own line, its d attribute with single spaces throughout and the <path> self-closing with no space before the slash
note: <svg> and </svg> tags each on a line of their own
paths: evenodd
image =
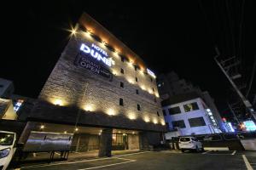
<svg viewBox="0 0 256 170">
<path fill-rule="evenodd" d="M 80 50 L 84 52 L 84 54 L 90 54 L 90 56 L 98 61 L 103 62 L 105 65 L 112 66 L 114 65 L 114 61 L 111 58 L 108 58 L 108 54 L 102 48 L 99 48 L 94 43 L 91 44 L 91 47 L 82 43 Z"/>
</svg>

